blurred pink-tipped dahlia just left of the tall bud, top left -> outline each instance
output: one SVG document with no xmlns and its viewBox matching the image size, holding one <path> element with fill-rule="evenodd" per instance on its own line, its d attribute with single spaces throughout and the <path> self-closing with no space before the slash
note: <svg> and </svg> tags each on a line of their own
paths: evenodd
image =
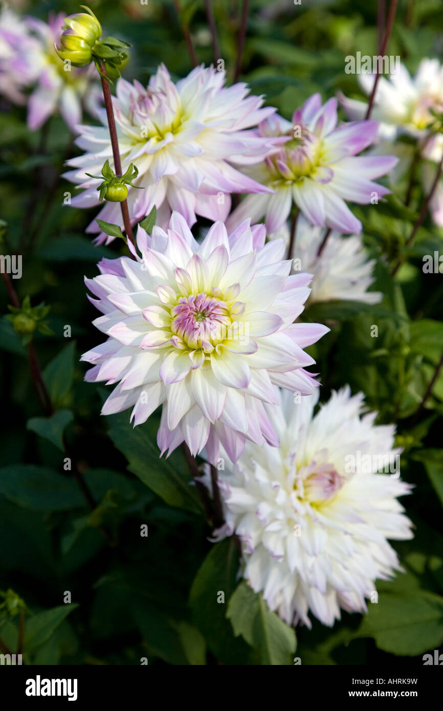
<svg viewBox="0 0 443 711">
<path fill-rule="evenodd" d="M 28 127 L 40 128 L 47 119 L 60 112 L 71 131 L 82 120 L 82 109 L 97 116 L 100 109 L 102 90 L 94 66 L 78 69 L 65 65 L 55 53 L 55 43 L 65 15 L 50 15 L 48 24 L 35 17 L 27 17 L 26 25 L 33 37 L 38 39 L 38 47 L 33 55 L 34 66 L 38 69 L 38 84 L 28 99 Z"/>
</svg>

